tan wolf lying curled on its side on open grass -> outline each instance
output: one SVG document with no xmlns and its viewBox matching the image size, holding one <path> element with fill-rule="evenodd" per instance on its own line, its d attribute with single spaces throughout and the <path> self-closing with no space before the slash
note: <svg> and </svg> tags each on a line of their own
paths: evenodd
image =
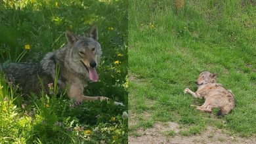
<svg viewBox="0 0 256 144">
<path fill-rule="evenodd" d="M 184 90 L 185 94 L 191 94 L 194 98 L 205 98 L 202 106 L 196 109 L 199 111 L 211 112 L 214 107 L 219 107 L 218 115 L 227 115 L 235 107 L 234 94 L 217 83 L 217 75 L 209 71 L 200 73 L 196 84 L 198 90 L 192 92 L 189 88 Z M 194 106 L 194 105 L 191 105 Z"/>
</svg>

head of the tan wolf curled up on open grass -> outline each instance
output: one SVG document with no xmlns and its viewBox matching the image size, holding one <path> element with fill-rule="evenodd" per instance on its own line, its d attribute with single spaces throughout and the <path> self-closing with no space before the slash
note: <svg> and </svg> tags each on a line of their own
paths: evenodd
<svg viewBox="0 0 256 144">
<path fill-rule="evenodd" d="M 210 73 L 209 71 L 203 71 L 200 73 L 198 79 L 196 80 L 196 84 L 198 86 L 202 84 L 207 84 L 207 83 L 216 83 L 217 80 L 217 75 L 215 73 Z"/>
</svg>

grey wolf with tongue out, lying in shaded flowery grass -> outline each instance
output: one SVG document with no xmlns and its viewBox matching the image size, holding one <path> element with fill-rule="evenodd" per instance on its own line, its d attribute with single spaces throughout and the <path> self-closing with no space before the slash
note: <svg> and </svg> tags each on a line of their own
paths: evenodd
<svg viewBox="0 0 256 144">
<path fill-rule="evenodd" d="M 100 63 L 102 50 L 97 27 L 92 26 L 91 31 L 81 37 L 66 31 L 66 39 L 67 45 L 47 53 L 38 63 L 9 63 L 2 65 L 1 69 L 9 81 L 18 84 L 23 94 L 39 94 L 42 87 L 49 92 L 49 84 L 57 78 L 58 87 L 67 88 L 68 97 L 77 102 L 108 99 L 83 94 L 87 82 L 98 81 L 96 67 Z"/>
</svg>

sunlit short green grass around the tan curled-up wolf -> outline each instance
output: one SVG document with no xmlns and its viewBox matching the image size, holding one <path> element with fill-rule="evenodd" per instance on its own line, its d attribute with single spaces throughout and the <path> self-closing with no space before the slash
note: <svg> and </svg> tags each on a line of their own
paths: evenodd
<svg viewBox="0 0 256 144">
<path fill-rule="evenodd" d="M 181 135 L 203 132 L 207 126 L 231 134 L 256 134 L 255 71 L 256 9 L 242 1 L 137 1 L 129 5 L 129 113 L 137 118 L 134 133 L 156 121 L 177 122 Z M 183 94 L 196 90 L 200 71 L 218 74 L 231 89 L 236 108 L 224 117 L 196 111 L 202 99 Z M 150 125 L 148 124 L 150 123 Z"/>
</svg>

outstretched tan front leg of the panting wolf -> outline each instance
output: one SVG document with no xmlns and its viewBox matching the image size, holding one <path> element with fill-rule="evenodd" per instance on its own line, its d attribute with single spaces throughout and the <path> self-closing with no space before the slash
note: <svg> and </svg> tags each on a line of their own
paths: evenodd
<svg viewBox="0 0 256 144">
<path fill-rule="evenodd" d="M 108 100 L 108 98 L 103 96 L 84 96 L 83 90 L 84 90 L 83 84 L 79 84 L 79 83 L 70 84 L 70 88 L 68 90 L 68 97 L 70 99 L 75 99 L 75 101 L 77 102 Z"/>
</svg>

